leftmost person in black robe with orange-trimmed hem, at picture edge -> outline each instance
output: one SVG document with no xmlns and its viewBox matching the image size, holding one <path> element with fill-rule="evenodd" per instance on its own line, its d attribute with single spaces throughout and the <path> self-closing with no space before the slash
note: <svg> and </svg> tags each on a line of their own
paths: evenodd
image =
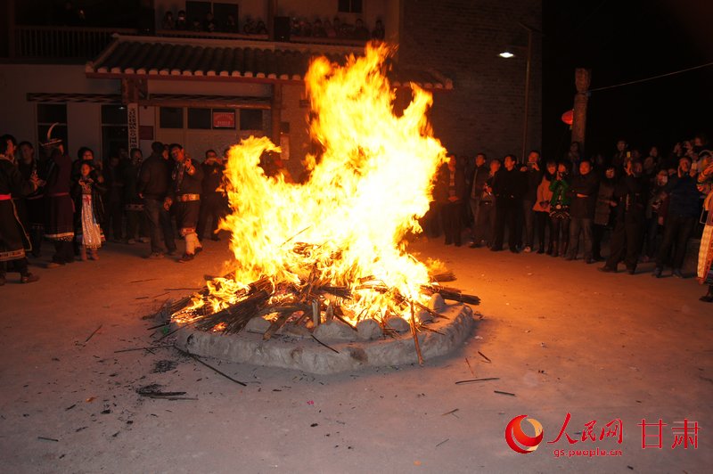
<svg viewBox="0 0 713 474">
<path fill-rule="evenodd" d="M 25 196 L 35 192 L 39 186 L 37 176 L 26 180 L 20 169 L 12 161 L 15 147 L 12 135 L 0 137 L 0 286 L 5 284 L 8 264 L 12 263 L 20 273 L 20 282 L 37 282 L 39 277 L 28 271 L 28 259 L 25 257 L 25 244 L 29 243 L 27 231 L 17 217 L 13 196 Z"/>
</svg>

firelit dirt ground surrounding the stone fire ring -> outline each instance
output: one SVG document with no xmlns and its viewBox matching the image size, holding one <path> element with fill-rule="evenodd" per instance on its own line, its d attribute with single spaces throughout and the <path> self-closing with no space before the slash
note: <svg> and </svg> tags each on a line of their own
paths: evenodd
<svg viewBox="0 0 713 474">
<path fill-rule="evenodd" d="M 652 264 L 602 274 L 581 260 L 441 241 L 411 249 L 446 262 L 453 285 L 482 298 L 484 318 L 461 350 L 423 367 L 331 376 L 209 361 L 246 387 L 172 347 L 117 352 L 165 344 L 143 316 L 221 274 L 225 240 L 184 265 L 141 258 L 147 244 L 109 243 L 98 262 L 33 267 L 37 283 L 9 274 L 0 288 L 2 470 L 709 471 L 713 306 L 698 301 L 693 279 L 653 279 Z M 456 384 L 476 378 L 497 380 Z M 185 399 L 137 393 L 154 384 Z M 505 442 L 521 414 L 544 427 L 531 454 Z M 617 420 L 621 444 L 602 437 Z M 653 424 L 645 437 L 643 420 Z M 672 447 L 684 420 L 687 446 Z M 591 421 L 594 440 L 582 441 Z M 575 451 L 597 449 L 620 455 Z"/>
</svg>

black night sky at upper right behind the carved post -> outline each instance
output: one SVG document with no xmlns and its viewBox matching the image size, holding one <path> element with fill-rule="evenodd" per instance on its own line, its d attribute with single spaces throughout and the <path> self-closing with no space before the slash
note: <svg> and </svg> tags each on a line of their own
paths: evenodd
<svg viewBox="0 0 713 474">
<path fill-rule="evenodd" d="M 709 0 L 545 0 L 543 2 L 543 143 L 561 158 L 570 127 L 574 69 L 592 69 L 594 89 L 713 61 Z M 610 156 L 619 137 L 646 153 L 705 133 L 713 139 L 713 66 L 642 84 L 592 92 L 587 157 Z M 645 154 L 644 154 L 645 156 Z"/>
</svg>

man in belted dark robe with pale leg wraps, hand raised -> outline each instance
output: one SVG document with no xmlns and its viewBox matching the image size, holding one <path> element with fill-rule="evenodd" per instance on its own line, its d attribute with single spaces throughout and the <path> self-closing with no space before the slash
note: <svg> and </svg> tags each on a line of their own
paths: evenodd
<svg viewBox="0 0 713 474">
<path fill-rule="evenodd" d="M 186 156 L 184 147 L 173 143 L 168 147 L 171 159 L 175 162 L 172 185 L 164 208 L 174 207 L 178 232 L 185 240 L 183 257 L 179 263 L 190 262 L 203 249 L 196 234 L 198 216 L 201 212 L 201 192 L 203 187 L 203 170 L 193 159 Z"/>
</svg>

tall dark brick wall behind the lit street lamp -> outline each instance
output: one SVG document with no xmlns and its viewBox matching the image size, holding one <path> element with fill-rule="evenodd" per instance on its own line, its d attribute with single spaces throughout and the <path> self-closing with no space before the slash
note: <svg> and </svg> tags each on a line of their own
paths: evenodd
<svg viewBox="0 0 713 474">
<path fill-rule="evenodd" d="M 398 61 L 435 68 L 452 91 L 436 92 L 434 133 L 448 151 L 490 157 L 520 155 L 525 102 L 527 30 L 542 29 L 540 0 L 404 0 Z M 498 53 L 521 45 L 516 57 Z M 542 137 L 542 41 L 533 34 L 528 149 Z"/>
</svg>

